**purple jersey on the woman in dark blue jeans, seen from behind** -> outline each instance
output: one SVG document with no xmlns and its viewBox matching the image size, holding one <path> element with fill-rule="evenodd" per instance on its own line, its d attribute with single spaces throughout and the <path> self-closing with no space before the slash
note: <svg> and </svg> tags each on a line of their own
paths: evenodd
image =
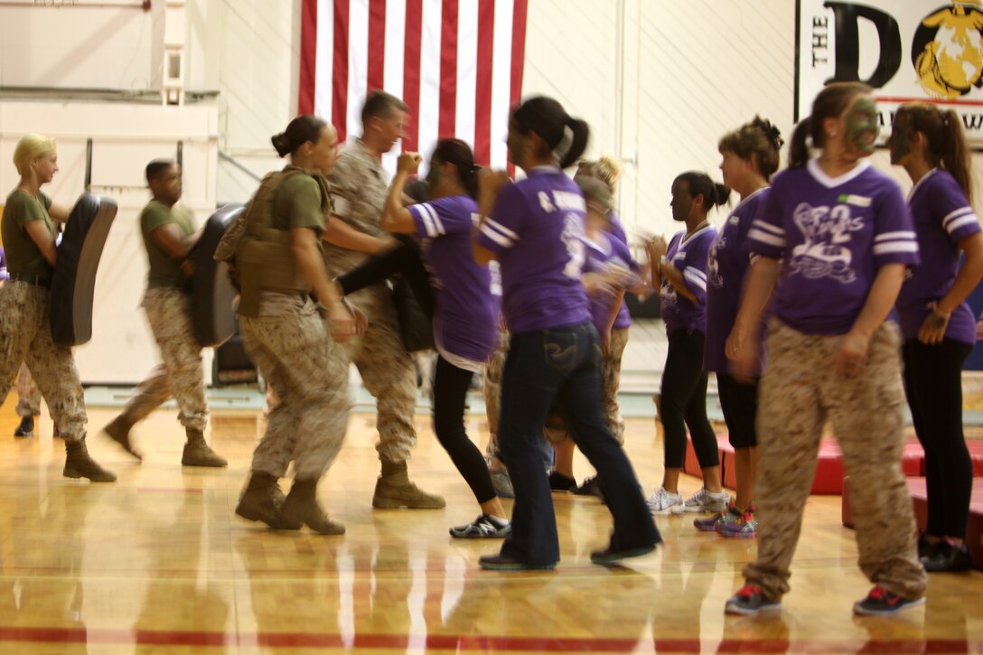
<svg viewBox="0 0 983 655">
<path fill-rule="evenodd" d="M 584 197 L 558 168 L 528 173 L 502 189 L 478 236 L 498 258 L 505 323 L 515 333 L 587 323 Z"/>
</svg>

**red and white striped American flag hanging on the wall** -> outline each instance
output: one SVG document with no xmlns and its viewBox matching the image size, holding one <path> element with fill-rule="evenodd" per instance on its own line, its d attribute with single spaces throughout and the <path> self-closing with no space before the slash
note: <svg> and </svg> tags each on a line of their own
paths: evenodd
<svg viewBox="0 0 983 655">
<path fill-rule="evenodd" d="M 300 113 L 361 136 L 371 89 L 410 107 L 402 149 L 429 157 L 456 137 L 504 167 L 509 108 L 522 92 L 528 0 L 304 0 Z M 395 169 L 399 146 L 383 163 Z"/>
</svg>

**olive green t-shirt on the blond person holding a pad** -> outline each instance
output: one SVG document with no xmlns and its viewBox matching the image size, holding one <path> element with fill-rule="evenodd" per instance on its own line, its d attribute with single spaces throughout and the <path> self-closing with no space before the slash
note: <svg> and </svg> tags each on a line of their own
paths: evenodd
<svg viewBox="0 0 983 655">
<path fill-rule="evenodd" d="M 12 274 L 51 278 L 51 265 L 44 259 L 26 229 L 30 221 L 43 220 L 54 240 L 55 226 L 48 214 L 50 207 L 51 199 L 40 192 L 31 198 L 18 189 L 7 196 L 7 206 L 3 209 L 2 233 L 7 270 Z"/>
</svg>

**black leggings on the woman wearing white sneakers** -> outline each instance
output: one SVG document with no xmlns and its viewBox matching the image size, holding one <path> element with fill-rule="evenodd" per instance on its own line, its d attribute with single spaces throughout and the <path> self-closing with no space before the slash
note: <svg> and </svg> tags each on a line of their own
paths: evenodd
<svg viewBox="0 0 983 655">
<path fill-rule="evenodd" d="M 703 370 L 704 335 L 676 329 L 669 334 L 660 411 L 665 428 L 665 467 L 682 468 L 686 457 L 686 426 L 700 468 L 719 466 L 717 436 L 707 419 L 707 372 Z"/>
</svg>

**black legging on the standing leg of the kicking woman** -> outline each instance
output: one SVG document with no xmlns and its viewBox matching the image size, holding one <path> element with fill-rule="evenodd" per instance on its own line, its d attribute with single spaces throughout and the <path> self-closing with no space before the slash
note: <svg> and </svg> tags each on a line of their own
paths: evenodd
<svg viewBox="0 0 983 655">
<path fill-rule="evenodd" d="M 471 487 L 478 502 L 494 498 L 492 476 L 482 451 L 468 439 L 464 429 L 464 403 L 471 386 L 471 371 L 459 369 L 437 357 L 434 374 L 434 433 L 440 446 Z"/>
</svg>

